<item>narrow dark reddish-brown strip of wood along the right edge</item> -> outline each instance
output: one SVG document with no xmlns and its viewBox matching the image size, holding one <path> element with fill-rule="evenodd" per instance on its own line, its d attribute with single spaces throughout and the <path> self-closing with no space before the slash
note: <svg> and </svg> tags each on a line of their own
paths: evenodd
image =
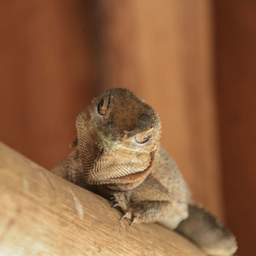
<svg viewBox="0 0 256 256">
<path fill-rule="evenodd" d="M 217 92 L 227 219 L 240 255 L 255 253 L 256 2 L 217 1 Z"/>
</svg>

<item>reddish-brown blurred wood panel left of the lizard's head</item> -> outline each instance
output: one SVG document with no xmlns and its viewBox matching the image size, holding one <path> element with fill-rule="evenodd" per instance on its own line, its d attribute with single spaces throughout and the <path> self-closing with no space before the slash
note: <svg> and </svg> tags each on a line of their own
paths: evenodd
<svg viewBox="0 0 256 256">
<path fill-rule="evenodd" d="M 75 117 L 94 95 L 83 2 L 0 3 L 0 138 L 46 167 L 67 156 Z"/>
</svg>

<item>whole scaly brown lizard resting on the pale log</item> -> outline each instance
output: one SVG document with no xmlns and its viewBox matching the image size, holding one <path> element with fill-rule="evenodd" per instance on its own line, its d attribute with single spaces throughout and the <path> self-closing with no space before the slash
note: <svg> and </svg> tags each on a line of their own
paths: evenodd
<svg viewBox="0 0 256 256">
<path fill-rule="evenodd" d="M 52 172 L 84 188 L 95 185 L 131 224 L 163 224 L 207 255 L 236 252 L 235 236 L 195 204 L 176 163 L 160 146 L 154 108 L 130 90 L 107 90 L 79 113 L 76 128 L 73 151 Z"/>
</svg>

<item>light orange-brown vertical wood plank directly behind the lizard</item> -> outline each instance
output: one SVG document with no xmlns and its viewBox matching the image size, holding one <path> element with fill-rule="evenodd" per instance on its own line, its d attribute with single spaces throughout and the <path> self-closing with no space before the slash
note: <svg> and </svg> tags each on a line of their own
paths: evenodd
<svg viewBox="0 0 256 256">
<path fill-rule="evenodd" d="M 127 87 L 160 113 L 161 143 L 196 201 L 222 216 L 210 1 L 99 2 L 103 89 Z"/>
</svg>

